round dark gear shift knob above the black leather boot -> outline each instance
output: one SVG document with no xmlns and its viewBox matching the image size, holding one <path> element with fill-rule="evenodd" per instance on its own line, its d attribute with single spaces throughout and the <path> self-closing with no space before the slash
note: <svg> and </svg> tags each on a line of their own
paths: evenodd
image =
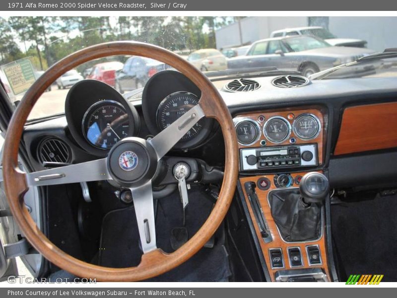
<svg viewBox="0 0 397 298">
<path fill-rule="evenodd" d="M 325 175 L 309 172 L 302 177 L 299 191 L 306 204 L 323 203 L 330 191 L 330 183 Z"/>
</svg>

